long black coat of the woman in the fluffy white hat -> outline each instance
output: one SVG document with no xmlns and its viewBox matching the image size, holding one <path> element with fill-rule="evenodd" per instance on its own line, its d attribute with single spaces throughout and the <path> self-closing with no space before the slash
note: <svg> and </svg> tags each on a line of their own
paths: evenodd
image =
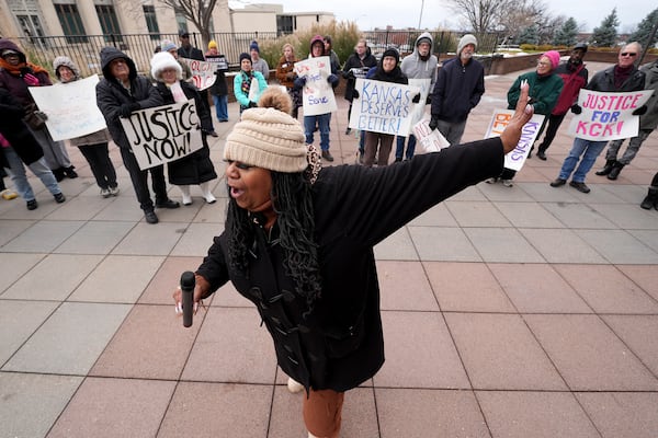
<svg viewBox="0 0 658 438">
<path fill-rule="evenodd" d="M 196 185 L 217 178 L 215 166 L 213 166 L 213 162 L 211 161 L 211 149 L 206 142 L 206 132 L 213 129 L 213 122 L 207 106 L 203 104 L 202 97 L 194 85 L 185 81 L 179 81 L 179 83 L 185 96 L 194 99 L 194 103 L 196 104 L 196 112 L 201 120 L 203 147 L 184 158 L 167 163 L 169 183 L 174 185 Z M 156 89 L 164 104 L 175 102 L 171 90 L 166 84 L 158 82 Z"/>
</svg>

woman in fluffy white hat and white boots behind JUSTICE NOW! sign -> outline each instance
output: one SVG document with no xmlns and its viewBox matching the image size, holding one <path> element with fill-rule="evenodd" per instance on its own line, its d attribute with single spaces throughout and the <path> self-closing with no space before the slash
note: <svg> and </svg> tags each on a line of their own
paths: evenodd
<svg viewBox="0 0 658 438">
<path fill-rule="evenodd" d="M 192 205 L 190 185 L 198 185 L 204 199 L 215 203 L 211 193 L 211 181 L 217 178 L 215 166 L 211 161 L 211 149 L 206 137 L 212 129 L 211 114 L 201 102 L 202 96 L 194 85 L 182 80 L 181 66 L 167 53 L 159 53 L 151 58 L 151 76 L 158 81 L 156 88 L 164 104 L 194 100 L 197 116 L 201 120 L 201 139 L 203 147 L 194 152 L 167 163 L 169 184 L 178 185 L 183 197 L 183 205 Z"/>
</svg>

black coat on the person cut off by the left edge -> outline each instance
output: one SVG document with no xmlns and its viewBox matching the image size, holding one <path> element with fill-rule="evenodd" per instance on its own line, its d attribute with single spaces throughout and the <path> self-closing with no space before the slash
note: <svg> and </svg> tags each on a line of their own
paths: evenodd
<svg viewBox="0 0 658 438">
<path fill-rule="evenodd" d="M 0 134 L 25 164 L 32 164 L 44 155 L 41 143 L 23 122 L 23 106 L 9 91 L 0 88 Z M 0 147 L 0 162 L 9 168 Z"/>
</svg>

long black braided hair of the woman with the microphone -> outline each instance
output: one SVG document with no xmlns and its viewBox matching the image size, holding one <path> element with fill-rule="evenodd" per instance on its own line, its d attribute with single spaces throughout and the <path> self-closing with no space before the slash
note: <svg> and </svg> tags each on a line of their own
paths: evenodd
<svg viewBox="0 0 658 438">
<path fill-rule="evenodd" d="M 276 212 L 280 244 L 284 251 L 285 274 L 295 283 L 295 292 L 308 306 L 310 314 L 320 297 L 321 280 L 310 183 L 303 173 L 271 172 L 272 206 Z M 230 198 L 226 228 L 229 233 L 228 257 L 232 269 L 248 276 L 249 250 L 254 242 L 247 210 Z"/>
</svg>

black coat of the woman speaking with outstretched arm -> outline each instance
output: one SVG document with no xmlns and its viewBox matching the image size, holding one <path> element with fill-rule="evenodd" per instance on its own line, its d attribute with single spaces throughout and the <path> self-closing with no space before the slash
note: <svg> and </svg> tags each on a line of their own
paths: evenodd
<svg viewBox="0 0 658 438">
<path fill-rule="evenodd" d="M 252 220 L 257 241 L 248 278 L 227 263 L 227 231 L 215 238 L 197 274 L 209 281 L 213 292 L 230 280 L 256 303 L 286 374 L 315 390 L 350 390 L 384 364 L 373 246 L 441 200 L 499 175 L 502 164 L 502 145 L 494 138 L 384 168 L 322 169 L 313 186 L 322 297 L 307 320 L 302 316 L 304 298 L 291 292 L 295 288 L 285 274 L 277 240 L 269 243 Z M 275 224 L 274 237 L 276 229 Z"/>
</svg>

